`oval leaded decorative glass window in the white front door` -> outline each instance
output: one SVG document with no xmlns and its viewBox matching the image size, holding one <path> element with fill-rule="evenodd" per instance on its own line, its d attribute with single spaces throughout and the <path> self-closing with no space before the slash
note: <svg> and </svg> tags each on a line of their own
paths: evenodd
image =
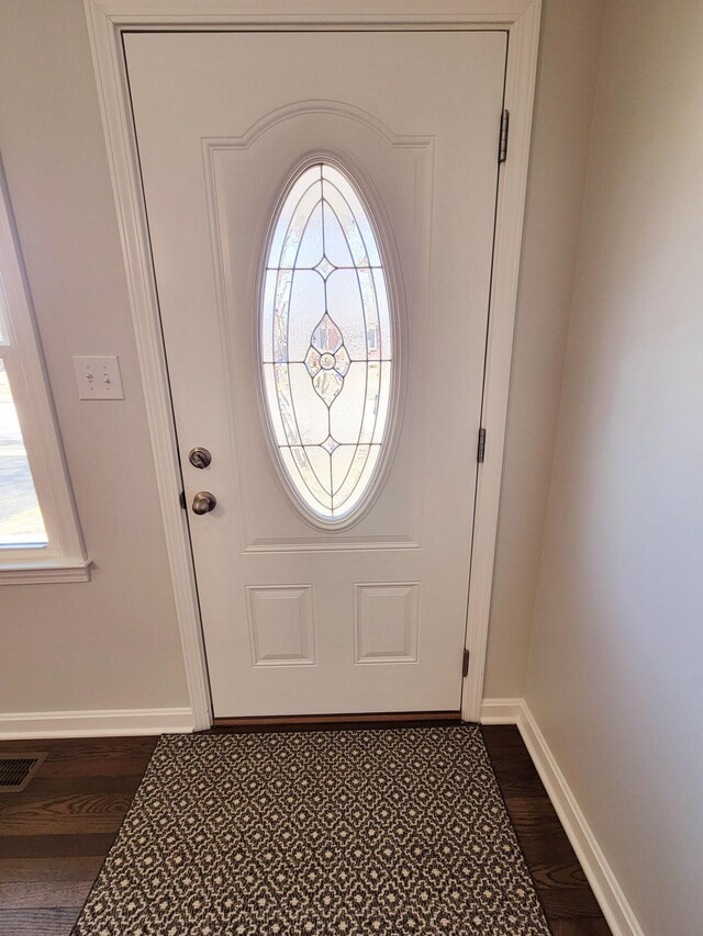
<svg viewBox="0 0 703 936">
<path fill-rule="evenodd" d="M 341 167 L 304 168 L 271 225 L 260 359 L 271 435 L 312 518 L 350 520 L 388 444 L 393 331 L 379 240 Z"/>
</svg>

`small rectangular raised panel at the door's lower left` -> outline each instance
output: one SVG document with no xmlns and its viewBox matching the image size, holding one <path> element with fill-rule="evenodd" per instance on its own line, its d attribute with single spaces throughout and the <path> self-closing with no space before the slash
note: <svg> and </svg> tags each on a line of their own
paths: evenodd
<svg viewBox="0 0 703 936">
<path fill-rule="evenodd" d="M 252 585 L 246 591 L 254 666 L 313 665 L 312 586 Z"/>
</svg>

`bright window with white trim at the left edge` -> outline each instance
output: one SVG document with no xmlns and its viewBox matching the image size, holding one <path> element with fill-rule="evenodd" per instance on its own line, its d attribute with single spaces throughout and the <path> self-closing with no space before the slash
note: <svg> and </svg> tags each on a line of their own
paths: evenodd
<svg viewBox="0 0 703 936">
<path fill-rule="evenodd" d="M 89 578 L 0 169 L 0 583 Z"/>
</svg>

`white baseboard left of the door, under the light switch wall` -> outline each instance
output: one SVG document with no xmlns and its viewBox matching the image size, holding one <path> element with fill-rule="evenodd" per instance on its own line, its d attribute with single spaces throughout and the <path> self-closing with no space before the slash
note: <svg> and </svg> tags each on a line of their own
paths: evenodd
<svg viewBox="0 0 703 936">
<path fill-rule="evenodd" d="M 188 708 L 10 712 L 0 713 L 0 741 L 189 733 L 194 724 L 193 713 Z"/>
</svg>

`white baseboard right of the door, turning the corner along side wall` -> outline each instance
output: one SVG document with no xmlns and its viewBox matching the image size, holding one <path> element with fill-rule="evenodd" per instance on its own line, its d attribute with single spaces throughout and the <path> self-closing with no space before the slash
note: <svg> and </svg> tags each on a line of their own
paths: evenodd
<svg viewBox="0 0 703 936">
<path fill-rule="evenodd" d="M 516 724 L 613 936 L 645 936 L 524 699 L 484 699 L 481 724 Z"/>
</svg>

